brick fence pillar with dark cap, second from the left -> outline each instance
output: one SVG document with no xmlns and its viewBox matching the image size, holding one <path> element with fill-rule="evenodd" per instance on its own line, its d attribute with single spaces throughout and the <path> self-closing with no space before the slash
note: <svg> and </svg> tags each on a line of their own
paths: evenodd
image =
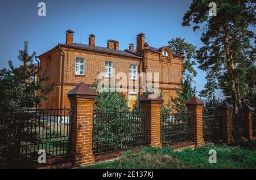
<svg viewBox="0 0 256 180">
<path fill-rule="evenodd" d="M 151 147 L 162 147 L 161 144 L 161 106 L 162 98 L 142 96 L 141 108 L 146 113 L 146 143 Z"/>
</svg>

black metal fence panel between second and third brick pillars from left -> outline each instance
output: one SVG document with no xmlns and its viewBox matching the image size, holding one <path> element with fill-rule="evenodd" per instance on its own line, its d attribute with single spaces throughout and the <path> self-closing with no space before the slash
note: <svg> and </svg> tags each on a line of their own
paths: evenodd
<svg viewBox="0 0 256 180">
<path fill-rule="evenodd" d="M 191 113 L 161 114 L 161 142 L 171 145 L 191 140 Z"/>
</svg>

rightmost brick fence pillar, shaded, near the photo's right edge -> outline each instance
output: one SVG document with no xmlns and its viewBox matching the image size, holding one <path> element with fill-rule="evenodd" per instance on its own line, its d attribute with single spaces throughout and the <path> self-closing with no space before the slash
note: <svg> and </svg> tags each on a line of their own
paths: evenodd
<svg viewBox="0 0 256 180">
<path fill-rule="evenodd" d="M 249 105 L 248 102 L 243 102 L 242 114 L 245 117 L 244 128 L 245 128 L 245 138 L 253 140 L 253 110 L 254 108 Z"/>
</svg>

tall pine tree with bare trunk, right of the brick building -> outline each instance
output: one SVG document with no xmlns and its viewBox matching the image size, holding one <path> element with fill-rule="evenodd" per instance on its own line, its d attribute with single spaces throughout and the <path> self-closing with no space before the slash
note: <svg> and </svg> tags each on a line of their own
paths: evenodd
<svg viewBox="0 0 256 180">
<path fill-rule="evenodd" d="M 256 84 L 250 82 L 255 76 L 251 74 L 255 72 L 255 48 L 250 43 L 255 35 L 249 30 L 255 27 L 255 1 L 214 1 L 217 16 L 209 16 L 210 2 L 193 0 L 182 24 L 193 24 L 193 31 L 201 33 L 204 44 L 196 57 L 199 68 L 207 72 L 207 84 L 201 96 L 211 97 L 220 88 L 225 96 L 232 97 L 237 114 L 242 99 L 255 92 Z"/>
</svg>

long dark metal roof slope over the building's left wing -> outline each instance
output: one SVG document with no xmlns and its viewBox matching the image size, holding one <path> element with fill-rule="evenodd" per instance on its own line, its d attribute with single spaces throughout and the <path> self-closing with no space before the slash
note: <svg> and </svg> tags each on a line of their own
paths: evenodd
<svg viewBox="0 0 256 180">
<path fill-rule="evenodd" d="M 59 45 L 67 46 L 67 47 L 71 47 L 71 48 L 92 50 L 92 51 L 102 52 L 102 53 L 124 55 L 124 56 L 127 56 L 127 57 L 142 58 L 142 57 L 139 57 L 138 55 L 134 55 L 134 54 L 129 53 L 127 51 L 103 48 L 103 47 L 100 47 L 100 46 L 91 46 L 91 45 L 87 45 L 87 44 L 78 44 L 78 43 L 74 43 L 74 44 L 70 44 L 70 45 L 66 45 L 66 44 L 59 44 Z"/>
</svg>

